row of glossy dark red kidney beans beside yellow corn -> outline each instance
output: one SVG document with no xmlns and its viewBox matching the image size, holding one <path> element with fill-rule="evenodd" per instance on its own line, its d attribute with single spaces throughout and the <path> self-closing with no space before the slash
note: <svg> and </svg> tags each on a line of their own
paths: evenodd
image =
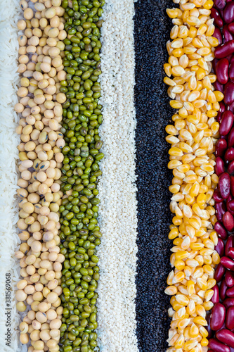
<svg viewBox="0 0 234 352">
<path fill-rule="evenodd" d="M 214 0 L 212 17 L 219 39 L 213 61 L 215 89 L 224 94 L 217 115 L 221 138 L 216 144 L 215 172 L 219 187 L 214 191 L 219 234 L 215 247 L 221 257 L 214 278 L 214 307 L 207 315 L 209 352 L 234 352 L 234 1 Z M 229 237 L 228 237 L 229 236 Z"/>
</svg>

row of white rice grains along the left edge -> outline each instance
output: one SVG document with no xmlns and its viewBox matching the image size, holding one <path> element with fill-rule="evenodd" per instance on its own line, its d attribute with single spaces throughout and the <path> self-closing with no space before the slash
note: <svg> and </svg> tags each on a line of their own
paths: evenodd
<svg viewBox="0 0 234 352">
<path fill-rule="evenodd" d="M 26 346 L 19 343 L 17 329 L 20 315 L 16 310 L 13 291 L 11 291 L 11 306 L 7 306 L 6 302 L 7 284 L 11 282 L 11 288 L 15 289 L 20 272 L 18 260 L 14 258 L 20 239 L 16 232 L 18 201 L 15 196 L 19 143 L 15 127 L 18 116 L 13 108 L 18 101 L 15 93 L 19 82 L 17 73 L 19 17 L 19 0 L 0 1 L 0 349 L 3 352 L 27 351 Z M 8 340 L 7 333 L 11 334 Z"/>
</svg>

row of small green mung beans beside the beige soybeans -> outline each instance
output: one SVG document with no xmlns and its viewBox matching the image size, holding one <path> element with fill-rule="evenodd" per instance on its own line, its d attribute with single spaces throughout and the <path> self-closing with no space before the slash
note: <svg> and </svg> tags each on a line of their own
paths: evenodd
<svg viewBox="0 0 234 352">
<path fill-rule="evenodd" d="M 93 351 L 97 346 L 96 299 L 99 268 L 96 246 L 98 177 L 102 142 L 98 127 L 102 106 L 100 84 L 100 27 L 104 0 L 63 0 L 65 9 L 64 70 L 60 73 L 63 102 L 63 165 L 60 178 L 60 253 L 65 256 L 60 296 L 63 318 L 60 351 Z"/>
</svg>

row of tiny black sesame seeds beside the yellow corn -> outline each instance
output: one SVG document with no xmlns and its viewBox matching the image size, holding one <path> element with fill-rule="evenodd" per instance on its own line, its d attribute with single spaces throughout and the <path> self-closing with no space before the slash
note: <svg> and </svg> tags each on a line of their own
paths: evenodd
<svg viewBox="0 0 234 352">
<path fill-rule="evenodd" d="M 138 253 L 136 321 L 140 351 L 166 351 L 169 298 L 164 289 L 169 273 L 171 172 L 167 169 L 165 127 L 173 109 L 163 84 L 165 43 L 171 27 L 166 8 L 169 0 L 135 3 L 136 53 L 136 180 L 138 201 Z M 147 83 L 146 83 L 147 82 Z"/>
</svg>

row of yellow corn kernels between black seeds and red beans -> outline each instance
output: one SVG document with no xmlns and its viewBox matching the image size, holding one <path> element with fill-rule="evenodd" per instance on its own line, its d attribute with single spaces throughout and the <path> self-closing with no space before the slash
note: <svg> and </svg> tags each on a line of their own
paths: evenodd
<svg viewBox="0 0 234 352">
<path fill-rule="evenodd" d="M 212 74 L 214 48 L 219 45 L 210 18 L 213 1 L 174 1 L 180 8 L 167 9 L 173 18 L 171 41 L 167 43 L 169 63 L 164 65 L 169 85 L 170 105 L 178 109 L 172 116 L 174 125 L 166 131 L 174 178 L 169 190 L 174 213 L 169 239 L 173 239 L 171 266 L 165 290 L 171 295 L 167 351 L 207 351 L 207 310 L 211 298 L 214 268 L 220 262 L 215 250 L 218 234 L 214 189 L 219 177 L 214 173 L 214 146 L 219 137 L 215 117 L 223 94 L 214 90 Z M 172 75 L 173 78 L 170 78 Z"/>
</svg>

